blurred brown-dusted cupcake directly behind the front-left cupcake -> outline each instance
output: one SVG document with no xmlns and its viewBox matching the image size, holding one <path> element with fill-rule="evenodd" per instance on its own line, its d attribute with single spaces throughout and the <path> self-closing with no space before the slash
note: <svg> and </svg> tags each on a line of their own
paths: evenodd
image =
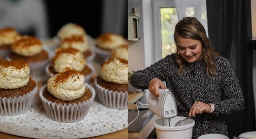
<svg viewBox="0 0 256 139">
<path fill-rule="evenodd" d="M 11 46 L 11 52 L 7 55 L 7 60 L 23 59 L 30 67 L 30 76 L 38 78 L 45 74 L 45 67 L 49 62 L 48 52 L 42 49 L 39 39 L 22 36 Z"/>
</svg>

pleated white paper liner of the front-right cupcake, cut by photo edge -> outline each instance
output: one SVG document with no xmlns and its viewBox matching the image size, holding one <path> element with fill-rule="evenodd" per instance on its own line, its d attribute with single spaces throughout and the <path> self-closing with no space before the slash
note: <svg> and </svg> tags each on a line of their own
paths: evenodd
<svg viewBox="0 0 256 139">
<path fill-rule="evenodd" d="M 97 83 L 97 78 L 94 79 L 95 90 L 99 101 L 111 108 L 125 110 L 128 109 L 128 92 L 118 92 L 108 90 Z"/>
</svg>

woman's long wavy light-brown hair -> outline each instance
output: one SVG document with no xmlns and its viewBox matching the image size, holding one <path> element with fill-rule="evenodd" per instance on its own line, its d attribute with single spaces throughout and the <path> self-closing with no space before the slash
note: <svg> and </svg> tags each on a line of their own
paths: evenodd
<svg viewBox="0 0 256 139">
<path fill-rule="evenodd" d="M 214 60 L 216 59 L 216 57 L 219 57 L 219 54 L 214 50 L 214 47 L 211 45 L 203 25 L 195 17 L 183 18 L 176 24 L 174 31 L 174 40 L 176 46 L 177 36 L 180 36 L 182 38 L 199 40 L 202 43 L 202 55 L 200 57 L 200 60 L 206 65 L 207 76 L 210 78 L 210 74 L 217 75 Z M 179 64 L 178 71 L 183 74 L 185 68 L 185 60 L 179 54 L 178 49 L 175 54 L 175 61 Z"/>
</svg>

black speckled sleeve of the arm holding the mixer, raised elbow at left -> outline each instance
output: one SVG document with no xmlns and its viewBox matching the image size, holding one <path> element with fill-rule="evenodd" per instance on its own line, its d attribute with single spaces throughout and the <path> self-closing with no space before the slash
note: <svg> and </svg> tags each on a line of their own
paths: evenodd
<svg viewBox="0 0 256 139">
<path fill-rule="evenodd" d="M 138 70 L 133 76 L 131 76 L 131 85 L 135 88 L 144 90 L 148 89 L 148 83 L 153 78 L 158 78 L 161 81 L 164 81 L 164 71 L 166 71 L 165 69 L 168 67 L 169 61 L 170 55 L 159 60 L 158 62 L 154 63 L 146 69 Z"/>
</svg>

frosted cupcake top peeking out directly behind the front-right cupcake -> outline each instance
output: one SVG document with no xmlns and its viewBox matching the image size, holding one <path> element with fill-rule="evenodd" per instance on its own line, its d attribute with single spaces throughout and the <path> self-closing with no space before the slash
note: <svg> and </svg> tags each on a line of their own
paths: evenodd
<svg viewBox="0 0 256 139">
<path fill-rule="evenodd" d="M 110 54 L 111 59 L 113 58 L 121 58 L 128 61 L 128 44 L 123 44 L 120 47 L 115 48 L 111 51 Z"/>
</svg>

